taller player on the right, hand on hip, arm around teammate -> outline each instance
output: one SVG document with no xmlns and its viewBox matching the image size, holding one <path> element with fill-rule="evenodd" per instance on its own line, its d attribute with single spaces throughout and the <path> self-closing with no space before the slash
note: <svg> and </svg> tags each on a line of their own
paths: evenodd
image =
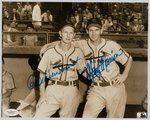
<svg viewBox="0 0 150 120">
<path fill-rule="evenodd" d="M 89 39 L 74 42 L 84 53 L 86 77 L 92 80 L 83 117 L 97 117 L 106 107 L 107 117 L 122 118 L 127 99 L 123 82 L 128 77 L 132 57 L 116 42 L 100 36 L 103 32 L 100 23 L 98 19 L 90 19 L 87 24 Z M 41 54 L 50 46 L 45 45 Z M 123 73 L 118 63 L 124 66 Z"/>
</svg>

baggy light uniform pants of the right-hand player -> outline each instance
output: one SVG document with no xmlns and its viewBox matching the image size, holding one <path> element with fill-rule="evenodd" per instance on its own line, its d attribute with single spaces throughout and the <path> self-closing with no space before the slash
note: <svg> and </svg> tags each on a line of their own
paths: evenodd
<svg viewBox="0 0 150 120">
<path fill-rule="evenodd" d="M 108 118 L 123 118 L 127 94 L 124 84 L 114 86 L 93 86 L 88 91 L 83 117 L 97 117 L 106 107 Z"/>
</svg>

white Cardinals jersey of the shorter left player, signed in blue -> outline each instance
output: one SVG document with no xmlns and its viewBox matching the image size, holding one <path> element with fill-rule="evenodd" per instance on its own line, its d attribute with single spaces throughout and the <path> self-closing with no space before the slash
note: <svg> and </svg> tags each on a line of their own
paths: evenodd
<svg viewBox="0 0 150 120">
<path fill-rule="evenodd" d="M 77 70 L 82 71 L 84 65 L 84 55 L 79 48 L 72 45 L 65 53 L 56 44 L 44 53 L 38 70 L 51 80 L 73 81 L 78 79 Z"/>
</svg>

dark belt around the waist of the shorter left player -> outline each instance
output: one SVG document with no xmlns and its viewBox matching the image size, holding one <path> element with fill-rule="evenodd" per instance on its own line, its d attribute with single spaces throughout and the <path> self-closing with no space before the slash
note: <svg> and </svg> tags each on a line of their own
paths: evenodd
<svg viewBox="0 0 150 120">
<path fill-rule="evenodd" d="M 50 82 L 48 85 L 63 85 L 63 86 L 77 86 L 78 85 L 78 80 L 74 81 L 56 81 L 56 80 L 49 80 Z"/>
</svg>

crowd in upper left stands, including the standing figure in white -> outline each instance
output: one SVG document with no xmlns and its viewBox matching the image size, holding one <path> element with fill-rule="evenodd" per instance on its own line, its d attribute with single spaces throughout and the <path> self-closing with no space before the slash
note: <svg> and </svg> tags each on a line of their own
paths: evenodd
<svg viewBox="0 0 150 120">
<path fill-rule="evenodd" d="M 43 24 L 51 25 L 53 23 L 53 15 L 50 10 L 41 12 L 41 3 L 37 2 L 31 5 L 29 2 L 23 6 L 22 3 L 16 3 L 16 7 L 8 12 L 7 6 L 3 7 L 3 19 L 12 21 L 11 26 L 16 27 L 19 23 L 39 22 L 40 26 Z M 34 24 L 34 23 L 33 23 Z M 36 25 L 35 25 L 36 26 Z"/>
</svg>

